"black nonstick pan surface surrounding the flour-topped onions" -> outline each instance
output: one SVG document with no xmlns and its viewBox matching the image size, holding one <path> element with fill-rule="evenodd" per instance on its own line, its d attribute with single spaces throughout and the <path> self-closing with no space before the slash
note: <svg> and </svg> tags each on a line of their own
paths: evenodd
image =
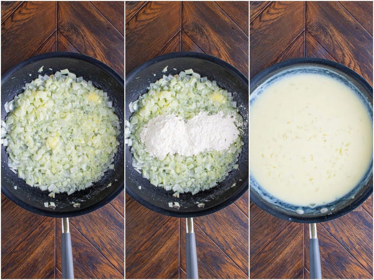
<svg viewBox="0 0 374 280">
<path fill-rule="evenodd" d="M 162 70 L 166 66 L 168 71 L 164 73 Z M 126 76 L 126 119 L 131 116 L 128 104 L 146 93 L 150 83 L 162 78 L 163 74 L 175 75 L 190 68 L 201 77 L 206 76 L 211 81 L 217 81 L 218 86 L 233 93 L 247 129 L 243 135 L 245 144 L 239 155 L 239 169 L 230 172 L 224 181 L 212 189 L 196 195 L 181 193 L 179 198 L 172 196 L 173 192 L 151 185 L 138 174 L 131 165 L 130 148 L 126 146 L 126 192 L 145 207 L 175 217 L 196 217 L 218 211 L 248 190 L 248 79 L 223 60 L 201 53 L 181 52 L 159 56 L 139 66 Z M 138 189 L 138 186 L 141 186 L 141 189 Z M 168 202 L 174 201 L 180 203 L 180 209 L 169 207 Z M 205 207 L 198 208 L 199 202 L 205 203 Z"/>
</svg>

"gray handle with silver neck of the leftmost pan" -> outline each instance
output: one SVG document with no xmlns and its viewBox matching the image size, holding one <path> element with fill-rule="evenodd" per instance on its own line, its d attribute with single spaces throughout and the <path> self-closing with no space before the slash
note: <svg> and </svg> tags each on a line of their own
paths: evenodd
<svg viewBox="0 0 374 280">
<path fill-rule="evenodd" d="M 74 279 L 73 250 L 69 231 L 69 218 L 62 218 L 61 266 L 62 279 Z"/>
</svg>

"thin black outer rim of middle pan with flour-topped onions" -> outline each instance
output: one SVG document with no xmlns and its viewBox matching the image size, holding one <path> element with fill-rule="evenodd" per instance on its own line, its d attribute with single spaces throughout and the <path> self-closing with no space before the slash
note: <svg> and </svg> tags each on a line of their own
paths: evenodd
<svg viewBox="0 0 374 280">
<path fill-rule="evenodd" d="M 237 68 L 235 68 L 231 64 L 227 63 L 226 61 L 224 61 L 222 59 L 219 59 L 218 57 L 215 57 L 215 56 L 212 56 L 212 55 L 207 55 L 205 53 L 197 53 L 197 52 L 174 52 L 174 53 L 167 53 L 165 55 L 154 57 L 153 59 L 150 59 L 150 60 L 142 63 L 141 65 L 137 66 L 134 70 L 132 70 L 129 74 L 127 74 L 126 77 L 125 77 L 126 84 L 129 83 L 129 81 L 132 81 L 133 79 L 135 79 L 136 75 L 140 71 L 142 71 L 143 69 L 147 68 L 148 66 L 150 66 L 154 63 L 161 62 L 161 61 L 166 60 L 166 59 L 181 58 L 181 57 L 193 57 L 193 58 L 204 59 L 204 60 L 208 60 L 209 62 L 217 63 L 218 65 L 222 66 L 227 71 L 231 72 L 235 77 L 237 77 L 242 82 L 242 84 L 245 85 L 245 87 L 248 89 L 247 91 L 249 93 L 248 78 L 246 78 L 245 75 L 242 74 L 242 72 L 240 72 Z M 126 165 L 126 169 L 127 168 L 128 167 Z M 129 168 L 131 168 L 131 167 L 129 167 Z M 125 172 L 125 176 L 126 176 L 126 172 Z M 126 181 L 127 180 L 128 179 L 126 178 Z M 177 212 L 177 211 L 171 211 L 171 210 L 168 210 L 168 209 L 160 208 L 160 207 L 155 206 L 155 205 L 145 201 L 144 199 L 142 199 L 135 192 L 133 192 L 126 184 L 125 184 L 125 186 L 126 186 L 126 193 L 132 199 L 134 199 L 136 202 L 140 203 L 142 206 L 145 206 L 146 208 L 148 208 L 148 209 L 150 209 L 154 212 L 157 212 L 157 213 L 162 214 L 162 215 L 167 215 L 167 216 L 171 216 L 171 217 L 180 217 L 180 218 L 200 217 L 200 216 L 212 214 L 214 212 L 217 212 L 217 211 L 229 206 L 230 204 L 235 202 L 237 199 L 239 199 L 245 192 L 247 192 L 248 188 L 249 188 L 249 173 L 248 173 L 248 177 L 243 182 L 242 187 L 240 189 L 238 189 L 237 192 L 234 193 L 234 195 L 230 196 L 228 199 L 222 201 L 221 203 L 219 203 L 219 204 L 217 204 L 217 205 L 215 205 L 215 206 L 213 206 L 209 209 L 202 209 L 202 210 L 199 210 L 199 211 L 190 211 L 190 212 Z"/>
</svg>

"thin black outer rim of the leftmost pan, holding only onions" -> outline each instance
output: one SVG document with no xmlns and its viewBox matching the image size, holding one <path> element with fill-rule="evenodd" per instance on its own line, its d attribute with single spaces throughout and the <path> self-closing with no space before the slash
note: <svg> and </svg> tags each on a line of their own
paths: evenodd
<svg viewBox="0 0 374 280">
<path fill-rule="evenodd" d="M 26 60 L 23 60 L 10 68 L 6 73 L 1 75 L 1 86 L 3 86 L 3 83 L 7 80 L 9 80 L 10 76 L 18 71 L 19 69 L 22 69 L 24 66 L 42 60 L 47 58 L 57 58 L 57 57 L 67 57 L 67 58 L 73 58 L 82 60 L 85 62 L 88 62 L 92 65 L 98 66 L 100 69 L 102 69 L 104 72 L 106 72 L 108 75 L 114 78 L 114 80 L 123 88 L 123 91 L 125 91 L 124 79 L 110 66 L 106 65 L 104 62 L 101 62 L 100 60 L 97 60 L 91 56 L 82 55 L 81 53 L 73 53 L 73 52 L 49 52 L 49 53 L 43 53 L 40 55 L 36 55 L 33 57 L 30 57 Z M 47 217 L 54 217 L 54 218 L 68 218 L 68 217 L 76 217 L 84 214 L 88 214 L 92 211 L 95 211 L 102 206 L 106 205 L 107 203 L 111 202 L 114 198 L 116 198 L 123 190 L 125 189 L 125 182 L 122 180 L 119 187 L 114 190 L 110 195 L 105 197 L 104 199 L 100 200 L 99 202 L 96 202 L 95 204 L 88 206 L 86 208 L 77 209 L 73 212 L 55 212 L 55 211 L 43 211 L 41 209 L 35 208 L 34 206 L 31 206 L 21 200 L 19 200 L 17 197 L 13 196 L 9 190 L 6 189 L 6 187 L 3 186 L 1 183 L 1 193 L 4 194 L 9 200 L 14 202 L 16 205 L 20 206 L 21 208 L 24 208 L 27 211 L 33 212 L 38 215 L 47 216 Z"/>
</svg>

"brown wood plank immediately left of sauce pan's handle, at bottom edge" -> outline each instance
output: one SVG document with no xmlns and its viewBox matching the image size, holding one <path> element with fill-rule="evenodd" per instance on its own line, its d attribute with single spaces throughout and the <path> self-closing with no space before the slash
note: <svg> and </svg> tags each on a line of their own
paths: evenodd
<svg viewBox="0 0 374 280">
<path fill-rule="evenodd" d="M 303 270 L 303 230 L 303 224 L 290 223 L 256 256 L 251 255 L 251 277 L 293 279 L 299 276 Z"/>
</svg>

